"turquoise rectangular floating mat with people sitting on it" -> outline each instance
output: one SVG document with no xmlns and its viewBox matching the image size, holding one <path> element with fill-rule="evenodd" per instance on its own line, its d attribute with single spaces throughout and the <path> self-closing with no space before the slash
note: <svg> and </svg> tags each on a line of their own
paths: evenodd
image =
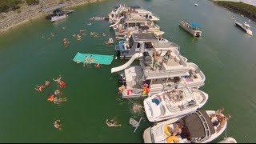
<svg viewBox="0 0 256 144">
<path fill-rule="evenodd" d="M 102 65 L 110 65 L 111 62 L 113 61 L 114 55 L 100 55 L 100 54 L 82 54 L 82 53 L 77 53 L 73 61 L 74 62 L 85 62 L 86 56 L 88 57 L 88 62 L 90 63 L 90 56 L 94 58 L 94 62 L 92 63 L 100 63 Z"/>
</svg>

